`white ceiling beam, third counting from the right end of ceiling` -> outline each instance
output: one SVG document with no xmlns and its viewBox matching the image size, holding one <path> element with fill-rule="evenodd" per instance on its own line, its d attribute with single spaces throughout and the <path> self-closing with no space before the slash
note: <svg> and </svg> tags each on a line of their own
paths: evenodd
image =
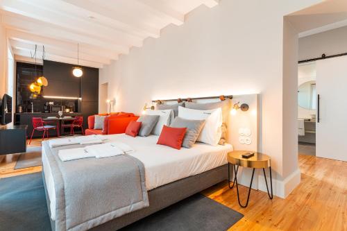
<svg viewBox="0 0 347 231">
<path fill-rule="evenodd" d="M 153 26 L 142 23 L 141 20 L 133 19 L 129 17 L 126 12 L 115 12 L 109 8 L 105 8 L 100 4 L 92 3 L 85 0 L 62 0 L 68 3 L 70 6 L 79 8 L 79 10 L 85 10 L 89 12 L 90 16 L 96 17 L 96 20 L 101 22 L 107 22 L 118 26 L 125 31 L 132 31 L 137 34 L 144 35 L 145 37 L 160 37 L 160 29 Z"/>
</svg>

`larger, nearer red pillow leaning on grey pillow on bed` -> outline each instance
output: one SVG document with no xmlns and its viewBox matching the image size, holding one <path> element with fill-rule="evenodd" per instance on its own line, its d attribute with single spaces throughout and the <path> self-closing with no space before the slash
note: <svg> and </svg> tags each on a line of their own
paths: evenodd
<svg viewBox="0 0 347 231">
<path fill-rule="evenodd" d="M 163 126 L 157 144 L 170 146 L 171 148 L 180 150 L 186 130 L 187 128 L 171 128 Z"/>
</svg>

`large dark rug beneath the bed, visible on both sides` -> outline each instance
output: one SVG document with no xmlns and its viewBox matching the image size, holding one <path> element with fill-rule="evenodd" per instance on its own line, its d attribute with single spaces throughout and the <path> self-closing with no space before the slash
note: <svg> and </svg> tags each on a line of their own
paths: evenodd
<svg viewBox="0 0 347 231">
<path fill-rule="evenodd" d="M 228 230 L 244 215 L 201 194 L 152 214 L 125 230 Z M 0 179 L 0 231 L 51 230 L 41 173 Z"/>
</svg>

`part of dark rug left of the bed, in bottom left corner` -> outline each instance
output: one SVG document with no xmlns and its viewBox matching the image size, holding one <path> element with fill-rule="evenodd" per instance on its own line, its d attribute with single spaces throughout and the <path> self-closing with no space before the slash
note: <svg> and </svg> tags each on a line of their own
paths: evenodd
<svg viewBox="0 0 347 231">
<path fill-rule="evenodd" d="M 41 173 L 0 179 L 0 230 L 51 230 Z"/>
</svg>

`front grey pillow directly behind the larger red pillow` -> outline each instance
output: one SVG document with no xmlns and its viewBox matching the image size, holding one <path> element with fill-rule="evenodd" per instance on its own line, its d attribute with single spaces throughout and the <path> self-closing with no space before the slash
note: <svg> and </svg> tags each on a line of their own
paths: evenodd
<svg viewBox="0 0 347 231">
<path fill-rule="evenodd" d="M 205 120 L 193 120 L 193 119 L 183 119 L 176 117 L 174 122 L 171 123 L 172 128 L 187 128 L 185 132 L 185 137 L 183 138 L 182 146 L 185 148 L 192 148 L 195 144 L 198 135 L 205 125 Z"/>
</svg>

